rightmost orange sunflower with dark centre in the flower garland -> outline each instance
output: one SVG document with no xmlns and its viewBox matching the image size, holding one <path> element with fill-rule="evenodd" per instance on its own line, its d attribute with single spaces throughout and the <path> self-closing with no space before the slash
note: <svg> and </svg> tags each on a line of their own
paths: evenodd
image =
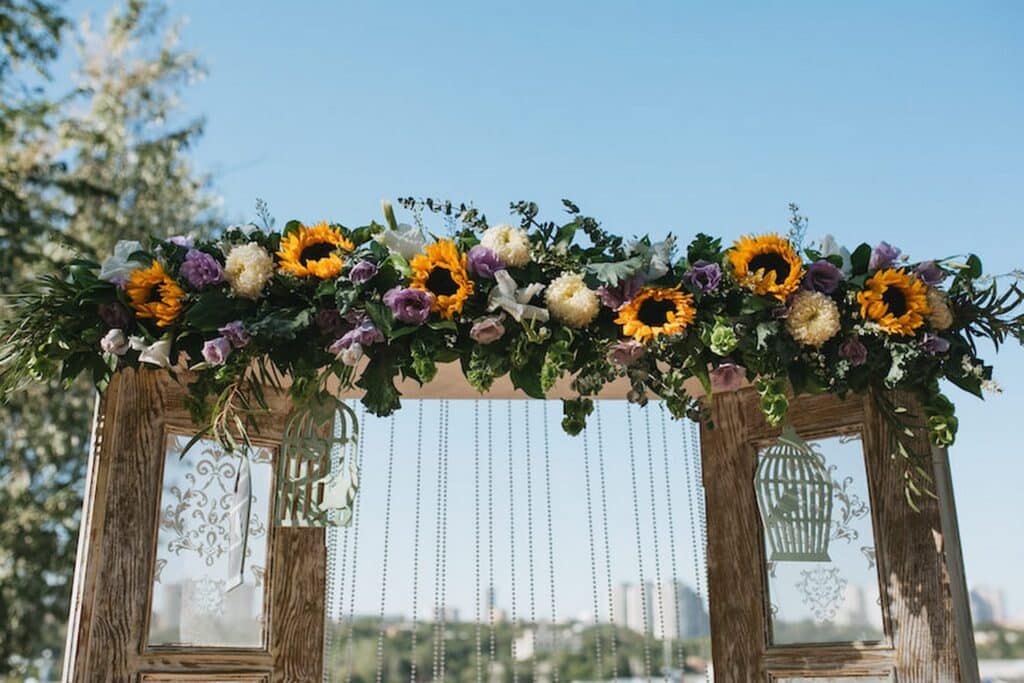
<svg viewBox="0 0 1024 683">
<path fill-rule="evenodd" d="M 857 293 L 857 302 L 865 321 L 874 321 L 891 335 L 912 335 L 931 311 L 928 287 L 905 270 L 895 268 L 871 275 Z"/>
</svg>

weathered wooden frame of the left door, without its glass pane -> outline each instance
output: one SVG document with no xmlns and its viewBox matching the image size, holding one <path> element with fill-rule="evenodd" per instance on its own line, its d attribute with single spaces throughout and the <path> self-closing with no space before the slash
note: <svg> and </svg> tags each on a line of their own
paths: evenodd
<svg viewBox="0 0 1024 683">
<path fill-rule="evenodd" d="M 186 393 L 185 382 L 167 372 L 123 370 L 97 401 L 62 680 L 135 683 L 147 673 L 188 681 L 214 673 L 319 681 L 324 529 L 272 530 L 265 649 L 146 648 L 166 435 L 196 431 Z M 275 391 L 267 398 L 272 410 L 258 421 L 258 434 L 276 442 L 289 401 Z"/>
</svg>

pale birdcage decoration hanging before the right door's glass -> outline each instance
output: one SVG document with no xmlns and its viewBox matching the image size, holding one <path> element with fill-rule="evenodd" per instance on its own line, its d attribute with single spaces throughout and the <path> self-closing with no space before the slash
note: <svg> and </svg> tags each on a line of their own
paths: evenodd
<svg viewBox="0 0 1024 683">
<path fill-rule="evenodd" d="M 830 561 L 833 482 L 824 457 L 787 425 L 759 460 L 754 485 L 769 561 Z"/>
</svg>

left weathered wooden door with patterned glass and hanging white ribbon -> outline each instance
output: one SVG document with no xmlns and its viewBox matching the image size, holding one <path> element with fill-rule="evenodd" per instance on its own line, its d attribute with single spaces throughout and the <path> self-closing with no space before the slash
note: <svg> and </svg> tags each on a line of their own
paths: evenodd
<svg viewBox="0 0 1024 683">
<path fill-rule="evenodd" d="M 124 371 L 97 407 L 63 680 L 318 682 L 324 531 L 271 522 L 287 399 L 270 394 L 251 454 L 239 575 L 240 461 L 209 440 L 182 453 L 196 433 L 184 392 L 166 373 Z"/>
</svg>

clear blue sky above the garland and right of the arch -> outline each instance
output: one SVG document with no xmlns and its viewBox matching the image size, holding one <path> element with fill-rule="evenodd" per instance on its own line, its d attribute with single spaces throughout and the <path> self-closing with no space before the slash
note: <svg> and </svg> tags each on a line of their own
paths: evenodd
<svg viewBox="0 0 1024 683">
<path fill-rule="evenodd" d="M 75 1 L 74 14 L 105 6 Z M 785 228 L 1024 265 L 1016 2 L 197 2 L 198 163 L 229 214 L 357 223 L 381 198 L 562 197 L 622 233 Z M 1024 353 L 955 395 L 972 584 L 1024 616 Z"/>
</svg>

